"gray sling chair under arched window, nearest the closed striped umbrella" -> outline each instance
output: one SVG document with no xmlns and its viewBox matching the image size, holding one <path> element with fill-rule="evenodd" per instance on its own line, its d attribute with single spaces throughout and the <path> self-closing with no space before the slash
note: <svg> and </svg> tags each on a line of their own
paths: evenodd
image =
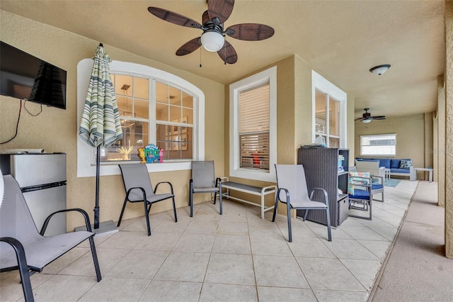
<svg viewBox="0 0 453 302">
<path fill-rule="evenodd" d="M 149 211 L 153 203 L 170 199 L 173 201 L 173 214 L 175 222 L 178 222 L 176 216 L 175 194 L 173 194 L 173 186 L 168 181 L 161 181 L 156 184 L 153 190 L 151 179 L 149 179 L 148 168 L 146 164 L 119 164 L 122 175 L 122 182 L 125 184 L 125 203 L 122 205 L 120 219 L 117 227 L 121 224 L 122 214 L 125 213 L 127 201 L 131 203 L 142 202 L 144 204 L 144 217 L 147 219 L 148 236 L 151 236 L 151 228 L 149 227 Z M 170 193 L 156 194 L 160 184 L 168 184 Z"/>
</svg>

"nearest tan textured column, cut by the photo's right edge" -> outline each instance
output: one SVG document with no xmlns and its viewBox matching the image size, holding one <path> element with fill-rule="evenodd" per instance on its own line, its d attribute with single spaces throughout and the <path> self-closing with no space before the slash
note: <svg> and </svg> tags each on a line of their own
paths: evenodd
<svg viewBox="0 0 453 302">
<path fill-rule="evenodd" d="M 453 1 L 445 2 L 445 255 L 453 258 Z"/>
</svg>

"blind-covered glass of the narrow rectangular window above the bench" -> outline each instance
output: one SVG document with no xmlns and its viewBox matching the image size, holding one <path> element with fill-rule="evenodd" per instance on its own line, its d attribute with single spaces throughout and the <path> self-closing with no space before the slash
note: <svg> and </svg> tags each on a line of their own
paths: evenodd
<svg viewBox="0 0 453 302">
<path fill-rule="evenodd" d="M 240 167 L 269 169 L 269 84 L 239 94 Z"/>
</svg>

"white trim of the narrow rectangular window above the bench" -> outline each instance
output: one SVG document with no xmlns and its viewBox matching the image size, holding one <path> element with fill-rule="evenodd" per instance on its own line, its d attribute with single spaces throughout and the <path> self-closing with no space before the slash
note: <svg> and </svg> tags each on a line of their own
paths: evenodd
<svg viewBox="0 0 453 302">
<path fill-rule="evenodd" d="M 254 86 L 269 82 L 270 130 L 269 171 L 240 167 L 239 158 L 239 93 Z M 229 86 L 229 174 L 231 177 L 276 182 L 277 163 L 277 67 L 253 74 Z"/>
</svg>

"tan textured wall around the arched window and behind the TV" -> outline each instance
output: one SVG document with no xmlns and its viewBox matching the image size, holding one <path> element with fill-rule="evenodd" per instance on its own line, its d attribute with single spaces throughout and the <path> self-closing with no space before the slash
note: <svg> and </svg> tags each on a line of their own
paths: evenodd
<svg viewBox="0 0 453 302">
<path fill-rule="evenodd" d="M 1 11 L 1 40 L 18 47 L 31 55 L 46 60 L 67 70 L 67 110 L 44 107 L 38 116 L 30 116 L 22 108 L 17 138 L 2 149 L 45 148 L 47 152 L 67 153 L 67 207 L 84 208 L 93 219 L 95 178 L 76 177 L 76 67 L 80 60 L 93 57 L 99 42 L 43 23 Z M 224 85 L 210 79 L 197 77 L 168 65 L 147 60 L 130 52 L 105 45 L 112 60 L 134 62 L 176 74 L 186 79 L 205 93 L 205 158 L 214 160 L 216 174 L 224 175 Z M 0 141 L 11 138 L 16 128 L 19 100 L 0 96 Z M 30 113 L 37 113 L 39 105 L 27 102 Z M 188 205 L 188 180 L 190 171 L 152 173 L 151 181 L 166 180 L 173 183 L 178 207 Z M 101 177 L 100 181 L 101 221 L 117 220 L 120 215 L 125 192 L 120 175 Z M 202 194 L 195 196 L 200 201 Z M 171 208 L 170 203 L 158 203 L 152 211 Z M 139 205 L 128 205 L 125 218 L 143 216 Z M 68 230 L 81 225 L 83 221 L 68 216 Z"/>
</svg>

